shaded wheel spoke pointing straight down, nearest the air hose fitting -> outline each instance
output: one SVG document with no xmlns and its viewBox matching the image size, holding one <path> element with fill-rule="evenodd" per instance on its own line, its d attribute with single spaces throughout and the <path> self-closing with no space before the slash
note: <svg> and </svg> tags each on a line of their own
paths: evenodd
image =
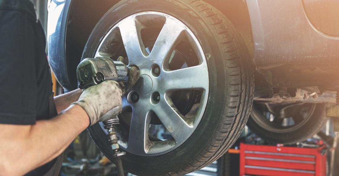
<svg viewBox="0 0 339 176">
<path fill-rule="evenodd" d="M 151 120 L 148 112 L 149 110 L 142 108 L 133 109 L 131 127 L 129 128 L 128 150 L 146 153 L 145 146 L 149 143 L 148 125 Z"/>
</svg>

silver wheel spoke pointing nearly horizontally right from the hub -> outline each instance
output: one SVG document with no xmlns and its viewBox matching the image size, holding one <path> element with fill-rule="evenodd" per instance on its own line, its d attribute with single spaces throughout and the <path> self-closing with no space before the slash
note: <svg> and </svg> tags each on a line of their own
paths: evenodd
<svg viewBox="0 0 339 176">
<path fill-rule="evenodd" d="M 164 71 L 159 77 L 166 80 L 166 82 L 160 85 L 166 91 L 185 89 L 208 90 L 208 72 L 207 66 L 204 63 L 194 67 Z"/>
</svg>

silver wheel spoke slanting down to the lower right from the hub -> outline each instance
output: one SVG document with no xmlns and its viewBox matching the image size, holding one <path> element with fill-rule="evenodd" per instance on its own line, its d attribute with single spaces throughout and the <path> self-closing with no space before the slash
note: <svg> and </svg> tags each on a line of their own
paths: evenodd
<svg viewBox="0 0 339 176">
<path fill-rule="evenodd" d="M 192 134 L 194 128 L 186 123 L 185 117 L 174 107 L 172 100 L 160 100 L 152 109 L 177 143 L 181 143 Z M 170 103 L 168 103 L 170 102 Z"/>
</svg>

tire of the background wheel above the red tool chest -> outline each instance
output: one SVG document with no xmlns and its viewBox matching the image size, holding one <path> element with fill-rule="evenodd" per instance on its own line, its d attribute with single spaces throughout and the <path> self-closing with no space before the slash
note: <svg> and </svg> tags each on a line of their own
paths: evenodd
<svg viewBox="0 0 339 176">
<path fill-rule="evenodd" d="M 275 132 L 274 130 L 269 130 L 267 127 L 265 128 L 260 125 L 260 122 L 258 122 L 256 118 L 265 117 L 260 117 L 261 111 L 256 107 L 252 107 L 252 112 L 246 125 L 255 134 L 267 141 L 278 144 L 296 144 L 312 137 L 319 132 L 327 122 L 327 118 L 325 117 L 325 104 L 315 103 L 313 108 L 312 115 L 302 126 L 288 132 Z"/>
</svg>

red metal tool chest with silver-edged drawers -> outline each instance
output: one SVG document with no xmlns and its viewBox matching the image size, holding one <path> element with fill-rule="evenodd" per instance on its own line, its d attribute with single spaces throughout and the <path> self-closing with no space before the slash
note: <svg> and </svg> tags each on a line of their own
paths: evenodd
<svg viewBox="0 0 339 176">
<path fill-rule="evenodd" d="M 320 148 L 240 144 L 240 176 L 326 176 Z"/>
</svg>

